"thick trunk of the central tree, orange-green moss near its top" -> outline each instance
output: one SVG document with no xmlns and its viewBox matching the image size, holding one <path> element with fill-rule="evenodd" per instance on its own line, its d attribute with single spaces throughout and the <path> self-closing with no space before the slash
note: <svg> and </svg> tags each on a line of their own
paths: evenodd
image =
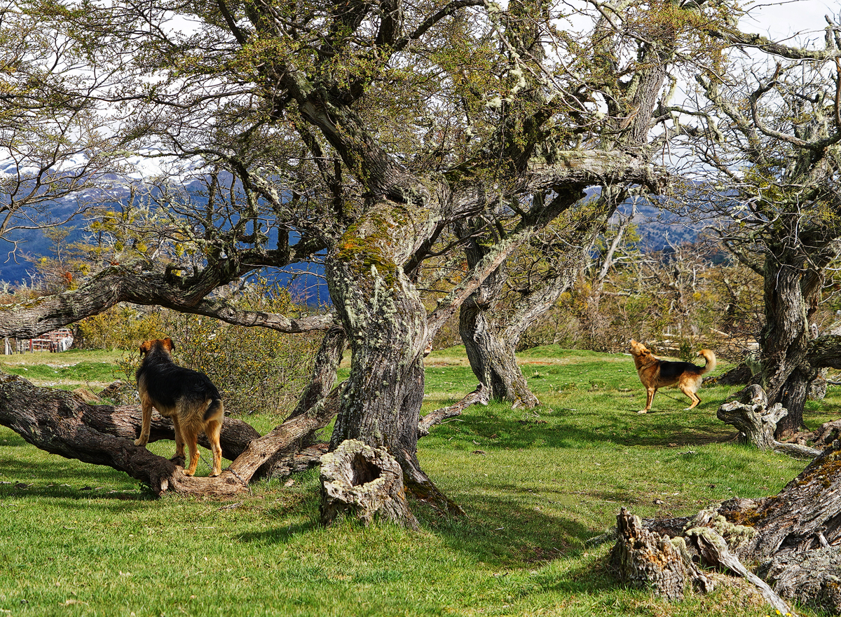
<svg viewBox="0 0 841 617">
<path fill-rule="evenodd" d="M 460 512 L 417 460 L 426 308 L 400 264 L 416 250 L 418 238 L 429 237 L 434 224 L 421 207 L 385 203 L 372 208 L 328 253 L 327 284 L 352 354 L 330 449 L 346 439 L 383 448 L 399 462 L 415 497 Z M 390 231 L 407 225 L 414 225 L 415 233 Z"/>
</svg>

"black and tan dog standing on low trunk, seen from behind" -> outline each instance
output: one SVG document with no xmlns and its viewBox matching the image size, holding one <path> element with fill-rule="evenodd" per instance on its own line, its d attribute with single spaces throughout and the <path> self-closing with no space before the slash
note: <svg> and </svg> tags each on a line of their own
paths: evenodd
<svg viewBox="0 0 841 617">
<path fill-rule="evenodd" d="M 207 375 L 185 369 L 172 362 L 170 352 L 175 348 L 172 338 L 156 338 L 140 345 L 145 354 L 137 370 L 137 391 L 143 408 L 143 425 L 135 445 L 149 442 L 152 407 L 161 416 L 172 418 L 175 428 L 175 455 L 184 456 L 184 444 L 190 449 L 190 465 L 184 471 L 193 476 L 198 465 L 198 433 L 204 431 L 213 452 L 213 473 L 222 471 L 222 448 L 219 443 L 225 407 L 216 386 Z"/>
</svg>

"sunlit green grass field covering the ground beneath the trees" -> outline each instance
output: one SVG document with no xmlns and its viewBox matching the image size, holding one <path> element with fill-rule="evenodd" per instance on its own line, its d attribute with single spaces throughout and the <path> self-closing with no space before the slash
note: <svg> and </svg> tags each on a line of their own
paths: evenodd
<svg viewBox="0 0 841 617">
<path fill-rule="evenodd" d="M 258 483 L 234 502 L 153 499 L 124 474 L 49 455 L 0 427 L 0 614 L 773 613 L 744 587 L 676 604 L 621 588 L 606 572 L 610 547 L 586 544 L 621 506 L 680 516 L 773 494 L 802 470 L 801 460 L 729 443 L 735 431 L 716 410 L 738 388 L 702 388 L 691 413 L 680 391 L 660 391 L 653 412 L 637 415 L 645 395 L 627 355 L 537 348 L 520 360 L 540 407 L 471 407 L 421 439 L 424 468 L 466 512 L 448 519 L 415 506 L 421 532 L 320 528 L 317 471 L 288 487 Z M 73 356 L 76 380 L 111 361 Z M 56 366 L 36 367 L 24 375 L 54 380 Z M 425 411 L 475 383 L 462 348 L 433 352 Z M 831 390 L 809 403 L 807 423 L 837 418 L 839 402 Z M 279 421 L 245 419 L 261 432 Z"/>
</svg>

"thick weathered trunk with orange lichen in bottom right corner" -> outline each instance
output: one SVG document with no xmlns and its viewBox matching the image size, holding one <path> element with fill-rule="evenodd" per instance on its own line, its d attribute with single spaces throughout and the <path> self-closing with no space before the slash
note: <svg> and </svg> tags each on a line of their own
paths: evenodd
<svg viewBox="0 0 841 617">
<path fill-rule="evenodd" d="M 709 566 L 741 572 L 742 563 L 759 564 L 756 574 L 769 589 L 748 576 L 747 570 L 744 576 L 782 614 L 791 609 L 777 604 L 774 596 L 841 614 L 839 471 L 841 441 L 835 441 L 773 497 L 735 498 L 703 510 L 693 519 L 666 524 L 653 521 L 645 527 L 684 538 L 690 555 Z"/>
</svg>

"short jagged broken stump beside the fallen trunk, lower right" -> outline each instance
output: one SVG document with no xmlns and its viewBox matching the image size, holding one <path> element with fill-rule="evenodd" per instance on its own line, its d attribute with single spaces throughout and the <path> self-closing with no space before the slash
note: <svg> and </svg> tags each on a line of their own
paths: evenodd
<svg viewBox="0 0 841 617">
<path fill-rule="evenodd" d="M 622 508 L 616 516 L 616 540 L 611 551 L 611 570 L 632 587 L 652 588 L 669 600 L 683 599 L 688 579 L 705 590 L 711 582 L 683 553 L 682 539 L 673 540 L 643 528 L 638 516 Z M 683 549 L 683 551 L 681 550 Z"/>
</svg>

